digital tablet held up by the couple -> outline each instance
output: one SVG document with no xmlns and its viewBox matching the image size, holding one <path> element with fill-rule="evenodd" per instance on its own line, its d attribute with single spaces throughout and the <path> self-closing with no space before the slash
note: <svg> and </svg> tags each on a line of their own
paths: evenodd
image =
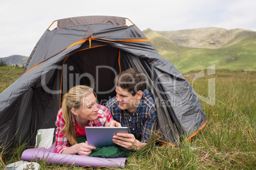
<svg viewBox="0 0 256 170">
<path fill-rule="evenodd" d="M 113 136 L 117 133 L 128 133 L 127 127 L 85 127 L 88 145 L 94 147 L 120 147 L 113 143 Z"/>
</svg>

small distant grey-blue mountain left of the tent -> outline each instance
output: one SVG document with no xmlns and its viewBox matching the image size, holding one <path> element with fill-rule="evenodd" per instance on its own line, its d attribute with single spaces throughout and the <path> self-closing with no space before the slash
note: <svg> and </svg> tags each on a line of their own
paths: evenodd
<svg viewBox="0 0 256 170">
<path fill-rule="evenodd" d="M 28 56 L 22 56 L 22 55 L 11 55 L 4 58 L 0 58 L 3 62 L 5 62 L 7 65 L 18 65 L 19 67 L 22 67 L 27 63 L 27 59 L 29 59 Z"/>
</svg>

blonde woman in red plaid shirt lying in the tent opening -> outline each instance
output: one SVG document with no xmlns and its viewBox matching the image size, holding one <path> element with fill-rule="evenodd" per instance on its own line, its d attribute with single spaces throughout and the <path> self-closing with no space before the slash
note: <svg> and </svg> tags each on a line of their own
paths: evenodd
<svg viewBox="0 0 256 170">
<path fill-rule="evenodd" d="M 90 155 L 95 147 L 87 141 L 77 143 L 76 138 L 86 136 L 85 126 L 108 126 L 113 118 L 108 108 L 98 105 L 96 94 L 88 86 L 75 86 L 63 96 L 62 108 L 57 114 L 55 125 L 55 153 Z M 117 122 L 116 122 L 117 123 Z M 72 145 L 69 147 L 69 144 Z"/>
</svg>

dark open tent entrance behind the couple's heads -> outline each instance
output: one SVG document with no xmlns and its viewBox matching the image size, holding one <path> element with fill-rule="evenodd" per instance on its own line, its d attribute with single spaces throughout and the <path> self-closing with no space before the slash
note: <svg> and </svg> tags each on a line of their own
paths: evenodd
<svg viewBox="0 0 256 170">
<path fill-rule="evenodd" d="M 62 66 L 62 94 L 73 86 L 87 85 L 94 88 L 99 104 L 105 105 L 115 96 L 113 80 L 125 67 L 120 60 L 120 49 L 111 46 L 76 51 Z"/>
</svg>

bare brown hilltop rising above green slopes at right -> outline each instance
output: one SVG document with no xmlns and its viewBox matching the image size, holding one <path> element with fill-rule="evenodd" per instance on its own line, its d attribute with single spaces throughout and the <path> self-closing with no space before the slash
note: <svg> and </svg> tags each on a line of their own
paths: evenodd
<svg viewBox="0 0 256 170">
<path fill-rule="evenodd" d="M 236 44 L 242 39 L 255 36 L 256 32 L 243 29 L 201 28 L 176 31 L 156 31 L 175 44 L 193 48 L 217 49 Z"/>
</svg>

